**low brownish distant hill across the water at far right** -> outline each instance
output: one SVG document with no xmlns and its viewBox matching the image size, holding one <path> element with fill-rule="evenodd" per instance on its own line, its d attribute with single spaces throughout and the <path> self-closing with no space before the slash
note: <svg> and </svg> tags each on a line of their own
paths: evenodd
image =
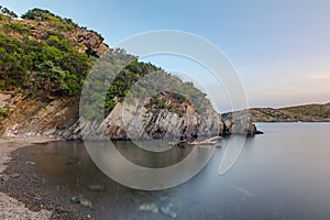
<svg viewBox="0 0 330 220">
<path fill-rule="evenodd" d="M 235 113 L 249 111 L 252 122 L 330 122 L 330 106 L 306 105 L 287 108 L 252 108 Z M 223 119 L 231 119 L 232 113 L 223 113 Z"/>
</svg>

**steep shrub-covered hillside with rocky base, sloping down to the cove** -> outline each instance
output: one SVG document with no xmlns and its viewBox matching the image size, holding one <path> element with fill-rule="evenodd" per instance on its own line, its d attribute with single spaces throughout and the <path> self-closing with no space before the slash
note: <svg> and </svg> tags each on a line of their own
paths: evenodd
<svg viewBox="0 0 330 220">
<path fill-rule="evenodd" d="M 177 135 L 183 131 L 219 133 L 221 116 L 191 82 L 183 82 L 152 64 L 139 62 L 139 57 L 123 50 L 110 48 L 103 41 L 98 33 L 46 10 L 33 9 L 18 19 L 14 12 L 1 9 L 0 136 L 79 140 L 88 134 L 91 139 L 128 139 L 122 119 L 124 107 L 136 109 L 125 116 L 140 119 L 138 123 L 127 122 L 134 124 L 130 128 L 136 139 Z M 100 69 L 103 74 L 111 73 L 127 61 L 130 63 L 109 85 L 106 100 L 100 96 L 101 89 L 89 87 L 98 88 L 112 76 L 105 75 L 101 81 L 96 78 L 87 84 L 87 97 L 99 101 L 87 102 L 82 110 L 80 105 L 84 121 L 79 121 L 79 99 L 86 77 Z M 174 92 L 155 94 L 142 106 L 134 106 L 140 103 L 138 99 L 124 106 L 131 88 L 154 72 L 160 74 L 162 84 L 150 80 L 146 85 L 154 89 L 162 85 Z M 182 91 L 198 101 L 191 103 L 177 96 Z M 139 92 L 148 95 L 144 88 Z M 100 108 L 103 111 L 98 111 Z"/>
</svg>

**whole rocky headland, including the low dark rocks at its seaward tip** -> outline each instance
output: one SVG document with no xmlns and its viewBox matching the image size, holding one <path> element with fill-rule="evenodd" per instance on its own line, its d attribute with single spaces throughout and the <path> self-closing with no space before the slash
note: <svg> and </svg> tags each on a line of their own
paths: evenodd
<svg viewBox="0 0 330 220">
<path fill-rule="evenodd" d="M 91 140 L 128 140 L 210 136 L 223 134 L 227 130 L 228 133 L 245 134 L 248 131 L 254 133 L 253 127 L 248 127 L 245 121 L 233 122 L 230 127 L 224 125 L 221 116 L 213 110 L 210 101 L 206 99 L 206 95 L 196 89 L 193 84 L 183 82 L 179 78 L 161 72 L 161 68 L 151 64 L 139 63 L 138 57 L 122 53 L 122 50 L 111 51 L 103 43 L 102 36 L 78 26 L 69 19 L 56 16 L 46 10 L 34 9 L 23 15 L 22 20 L 9 20 L 8 18 L 7 20 L 0 20 L 0 24 L 7 38 L 15 38 L 16 43 L 22 43 L 22 50 L 18 50 L 18 52 L 34 52 L 33 50 L 36 50 L 35 52 L 42 54 L 45 46 L 52 52 L 50 54 L 53 54 L 53 51 L 58 54 L 75 52 L 68 54 L 68 57 L 72 57 L 73 61 L 68 59 L 67 64 L 66 56 L 63 56 L 61 62 L 53 61 L 58 58 L 56 54 L 56 56 L 50 56 L 51 58 L 45 57 L 45 61 L 37 66 L 33 64 L 29 68 L 26 67 L 21 77 L 14 78 L 16 76 L 13 75 L 2 77 L 2 88 L 12 91 L 0 92 L 1 136 L 43 135 L 65 140 L 80 140 L 84 138 Z M 23 46 L 25 40 L 29 40 L 29 45 L 33 46 L 25 48 Z M 84 118 L 79 120 L 80 84 L 85 80 L 85 75 L 88 75 L 88 66 L 95 64 L 91 63 L 95 59 L 86 61 L 88 57 L 84 55 L 81 58 L 77 51 L 87 53 L 88 56 L 100 57 L 103 55 L 103 61 L 102 58 L 98 59 L 101 61 L 99 67 L 105 68 L 105 72 L 101 70 L 101 73 L 119 68 L 123 63 L 129 68 L 112 81 L 114 85 L 112 85 L 112 88 L 116 88 L 109 94 L 112 92 L 116 96 L 107 97 L 111 108 L 109 106 L 106 119 L 98 121 Z M 114 53 L 109 53 L 110 57 L 107 59 L 105 54 L 108 51 Z M 25 55 L 20 55 L 16 59 L 19 61 L 23 56 Z M 36 55 L 34 53 L 30 56 L 34 57 Z M 79 57 L 81 61 L 76 62 Z M 13 63 L 19 64 L 20 62 Z M 56 66 L 55 63 L 61 63 L 62 66 Z M 73 63 L 76 65 L 73 66 Z M 81 65 L 84 68 L 79 69 Z M 98 66 L 96 69 L 98 69 Z M 8 69 L 6 72 L 15 73 Z M 145 75 L 151 75 L 154 72 L 161 73 L 150 78 L 145 77 Z M 30 74 L 28 78 L 25 77 L 26 73 Z M 91 73 L 94 72 L 91 70 Z M 98 77 L 98 75 L 95 76 Z M 11 79 L 10 77 L 14 78 L 16 84 L 20 82 L 20 86 L 15 86 L 15 84 L 6 86 L 10 82 L 10 80 L 7 80 Z M 111 76 L 102 77 L 111 78 Z M 127 96 L 125 91 L 131 90 L 131 87 L 138 84 L 136 81 L 140 81 L 142 77 L 144 80 L 148 79 L 148 81 L 142 80 L 144 82 L 141 82 L 141 86 L 143 84 L 144 86 L 147 85 L 147 89 L 142 87 L 141 91 L 144 91 L 147 96 L 151 90 L 155 89 L 160 94 L 150 98 L 147 103 L 141 105 L 134 98 L 132 98 L 132 103 L 123 103 Z M 96 82 L 96 88 L 98 88 L 98 82 L 100 85 L 105 82 L 105 78 Z M 95 80 L 91 81 L 95 82 Z M 167 81 L 166 85 L 164 85 L 165 81 Z M 92 84 L 89 82 L 87 85 L 92 88 Z M 163 88 L 158 88 L 158 82 L 163 84 Z M 136 89 L 139 90 L 139 87 Z M 88 91 L 88 96 L 100 96 L 99 90 L 90 89 Z M 141 92 L 136 94 L 140 95 Z M 178 94 L 182 94 L 182 97 Z M 189 99 L 195 101 L 190 102 Z M 99 99 L 90 105 L 102 106 L 101 101 Z M 134 103 L 138 103 L 138 106 Z M 107 105 L 109 103 L 107 102 Z M 90 112 L 95 111 L 91 110 Z M 99 116 L 102 114 L 103 112 Z"/>
</svg>

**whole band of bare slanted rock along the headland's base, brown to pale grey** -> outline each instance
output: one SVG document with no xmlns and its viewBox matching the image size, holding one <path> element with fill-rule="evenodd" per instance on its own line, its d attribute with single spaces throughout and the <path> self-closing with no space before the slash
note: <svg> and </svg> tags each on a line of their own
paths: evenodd
<svg viewBox="0 0 330 220">
<path fill-rule="evenodd" d="M 175 110 L 117 103 L 101 124 L 79 121 L 78 100 L 43 100 L 34 95 L 0 95 L 0 105 L 11 114 L 1 120 L 2 138 L 42 135 L 65 140 L 163 139 L 182 134 L 218 135 L 221 116 L 208 108 L 202 114 L 191 103 L 177 103 Z M 163 97 L 169 103 L 168 97 Z M 172 100 L 173 101 L 173 100 Z M 172 102 L 173 103 L 173 102 Z M 152 108 L 152 109 L 151 109 Z"/>
</svg>

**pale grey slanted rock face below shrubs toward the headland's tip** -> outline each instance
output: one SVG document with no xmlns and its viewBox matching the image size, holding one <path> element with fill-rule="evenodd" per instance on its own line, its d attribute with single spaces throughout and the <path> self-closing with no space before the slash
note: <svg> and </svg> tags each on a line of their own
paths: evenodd
<svg viewBox="0 0 330 220">
<path fill-rule="evenodd" d="M 222 128 L 221 116 L 212 108 L 199 114 L 191 103 L 174 103 L 166 96 L 168 95 L 163 94 L 162 107 L 155 105 L 156 101 L 140 106 L 117 103 L 100 125 L 84 121 L 78 130 L 89 140 L 219 135 Z"/>
</svg>

